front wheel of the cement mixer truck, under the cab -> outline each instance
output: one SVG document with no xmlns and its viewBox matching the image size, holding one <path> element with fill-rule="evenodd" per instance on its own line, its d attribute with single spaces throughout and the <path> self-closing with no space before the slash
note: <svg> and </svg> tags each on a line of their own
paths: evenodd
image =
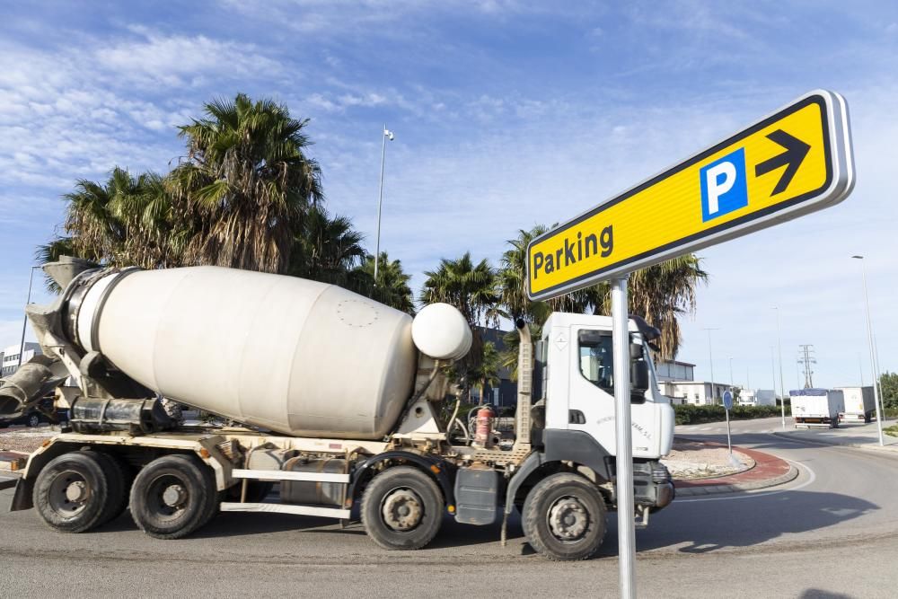
<svg viewBox="0 0 898 599">
<path fill-rule="evenodd" d="M 592 482 L 559 472 L 541 480 L 524 502 L 524 535 L 549 559 L 587 559 L 605 536 L 605 502 Z"/>
</svg>

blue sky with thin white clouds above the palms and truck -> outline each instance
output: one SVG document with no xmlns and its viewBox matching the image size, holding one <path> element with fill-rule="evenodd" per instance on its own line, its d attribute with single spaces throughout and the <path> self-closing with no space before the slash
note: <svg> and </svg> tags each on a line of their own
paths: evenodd
<svg viewBox="0 0 898 599">
<path fill-rule="evenodd" d="M 60 195 L 114 165 L 164 172 L 175 126 L 246 92 L 312 119 L 331 210 L 415 275 L 563 221 L 811 89 L 841 92 L 858 184 L 841 205 L 700 252 L 680 359 L 769 388 L 800 343 L 814 383 L 869 383 L 858 260 L 880 363 L 898 368 L 898 4 L 267 0 L 5 3 L 0 24 L 0 347 L 17 343 L 34 247 Z M 39 300 L 46 295 L 37 294 Z M 747 380 L 746 380 L 747 379 Z"/>
</svg>

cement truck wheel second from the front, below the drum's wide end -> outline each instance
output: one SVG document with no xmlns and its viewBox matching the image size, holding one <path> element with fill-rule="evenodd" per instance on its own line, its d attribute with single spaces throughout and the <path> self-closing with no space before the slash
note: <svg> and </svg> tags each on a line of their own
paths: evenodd
<svg viewBox="0 0 898 599">
<path fill-rule="evenodd" d="M 387 550 L 421 549 L 443 524 L 443 494 L 427 474 L 396 466 L 374 477 L 362 498 L 362 524 Z"/>
</svg>

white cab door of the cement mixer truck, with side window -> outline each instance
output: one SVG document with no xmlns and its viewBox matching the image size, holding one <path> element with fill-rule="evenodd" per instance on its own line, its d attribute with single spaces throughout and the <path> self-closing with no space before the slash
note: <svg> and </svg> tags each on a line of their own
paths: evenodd
<svg viewBox="0 0 898 599">
<path fill-rule="evenodd" d="M 614 360 L 612 332 L 572 326 L 570 330 L 568 428 L 589 433 L 615 453 Z M 647 399 L 646 395 L 649 396 Z M 656 404 L 652 393 L 634 396 L 630 403 L 634 456 L 656 456 Z"/>
</svg>

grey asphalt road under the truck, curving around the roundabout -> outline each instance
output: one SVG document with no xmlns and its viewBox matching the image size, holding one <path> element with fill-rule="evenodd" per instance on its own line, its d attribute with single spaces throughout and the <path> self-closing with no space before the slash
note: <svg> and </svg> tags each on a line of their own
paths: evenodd
<svg viewBox="0 0 898 599">
<path fill-rule="evenodd" d="M 644 597 L 898 595 L 898 454 L 772 436 L 779 419 L 735 422 L 735 445 L 788 459 L 797 480 L 751 493 L 678 499 L 637 532 Z M 678 427 L 726 440 L 722 426 Z M 12 491 L 0 491 L 0 507 Z M 88 534 L 46 528 L 33 511 L 0 513 L 0 596 L 530 597 L 614 596 L 617 530 L 597 559 L 552 563 L 514 520 L 447 520 L 422 551 L 377 548 L 359 525 L 288 515 L 219 515 L 181 541 L 156 541 L 124 515 Z"/>
</svg>

